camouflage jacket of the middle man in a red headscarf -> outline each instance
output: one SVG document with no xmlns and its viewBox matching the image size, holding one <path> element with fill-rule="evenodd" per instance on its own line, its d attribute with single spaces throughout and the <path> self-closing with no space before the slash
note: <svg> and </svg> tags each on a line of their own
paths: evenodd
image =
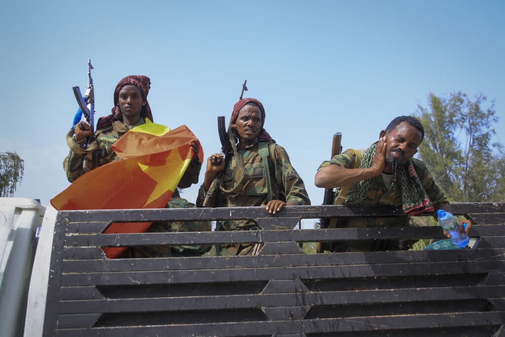
<svg viewBox="0 0 505 337">
<path fill-rule="evenodd" d="M 267 178 L 263 161 L 259 154 L 259 141 L 243 150 L 238 150 L 240 160 L 250 177 L 244 188 L 237 195 L 225 194 L 217 188 L 211 197 L 212 207 L 247 207 L 261 206 L 268 203 Z M 310 199 L 304 182 L 289 161 L 286 150 L 274 142 L 268 146 L 268 167 L 272 184 L 272 199 L 282 200 L 293 205 L 310 205 Z M 222 187 L 231 189 L 242 177 L 233 153 L 228 154 L 227 165 L 221 178 Z M 205 191 L 200 187 L 196 205 L 202 207 Z M 226 230 L 247 229 L 256 226 L 253 221 L 228 221 L 223 223 Z"/>
</svg>

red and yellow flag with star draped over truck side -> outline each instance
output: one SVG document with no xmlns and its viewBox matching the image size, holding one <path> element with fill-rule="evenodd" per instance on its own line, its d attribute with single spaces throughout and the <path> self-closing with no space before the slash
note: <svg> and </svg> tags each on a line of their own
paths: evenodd
<svg viewBox="0 0 505 337">
<path fill-rule="evenodd" d="M 170 130 L 150 122 L 139 125 L 113 145 L 120 160 L 100 166 L 75 180 L 51 200 L 57 210 L 164 208 L 184 175 L 196 139 L 185 125 Z M 198 157 L 203 162 L 203 149 Z M 113 223 L 105 233 L 139 233 L 151 223 Z M 115 258 L 126 248 L 104 248 Z"/>
</svg>

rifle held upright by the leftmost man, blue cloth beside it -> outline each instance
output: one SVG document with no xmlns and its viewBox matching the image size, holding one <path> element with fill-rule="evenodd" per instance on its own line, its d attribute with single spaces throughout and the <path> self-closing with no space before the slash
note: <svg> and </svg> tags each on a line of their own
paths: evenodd
<svg viewBox="0 0 505 337">
<path fill-rule="evenodd" d="M 88 85 L 86 86 L 86 91 L 84 93 L 84 97 L 81 93 L 81 89 L 78 86 L 72 87 L 74 90 L 75 99 L 77 100 L 77 104 L 79 105 L 79 110 L 84 113 L 86 118 L 86 122 L 91 127 L 91 134 L 86 140 L 86 145 L 84 149 L 88 149 L 89 145 L 94 139 L 94 86 L 93 86 L 93 78 L 91 77 L 91 69 L 93 66 L 91 65 L 91 60 L 88 59 Z M 77 117 L 80 119 L 79 111 L 77 111 L 76 117 L 74 118 L 74 126 L 77 124 Z M 87 159 L 87 160 L 86 160 Z M 90 158 L 86 156 L 84 162 L 82 163 L 82 167 L 84 171 L 89 171 L 90 168 Z"/>
</svg>

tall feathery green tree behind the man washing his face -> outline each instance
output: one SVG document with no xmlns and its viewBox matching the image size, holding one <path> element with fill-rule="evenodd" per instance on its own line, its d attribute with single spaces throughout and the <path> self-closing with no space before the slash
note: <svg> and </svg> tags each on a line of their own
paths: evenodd
<svg viewBox="0 0 505 337">
<path fill-rule="evenodd" d="M 460 202 L 503 201 L 505 156 L 491 143 L 498 121 L 494 103 L 483 94 L 473 99 L 461 91 L 448 98 L 429 94 L 428 107 L 415 116 L 425 128 L 419 156 L 447 196 Z"/>
</svg>

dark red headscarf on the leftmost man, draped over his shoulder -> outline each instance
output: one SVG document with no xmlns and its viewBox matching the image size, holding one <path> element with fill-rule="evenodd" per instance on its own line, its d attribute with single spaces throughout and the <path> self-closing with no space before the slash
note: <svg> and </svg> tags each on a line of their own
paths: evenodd
<svg viewBox="0 0 505 337">
<path fill-rule="evenodd" d="M 121 113 L 121 109 L 119 109 L 119 91 L 126 85 L 135 85 L 140 89 L 140 94 L 142 95 L 142 100 L 145 102 L 145 105 L 142 107 L 140 111 L 140 117 L 149 118 L 149 120 L 153 121 L 153 114 L 151 113 L 151 108 L 149 107 L 149 103 L 147 102 L 147 94 L 149 93 L 151 80 L 147 76 L 143 75 L 131 75 L 126 76 L 121 79 L 116 85 L 116 89 L 114 90 L 114 108 L 112 108 L 112 114 L 107 117 L 100 117 L 98 119 L 98 123 L 96 123 L 96 128 L 101 129 L 103 127 L 109 126 L 115 120 L 123 120 L 123 114 Z"/>
</svg>

